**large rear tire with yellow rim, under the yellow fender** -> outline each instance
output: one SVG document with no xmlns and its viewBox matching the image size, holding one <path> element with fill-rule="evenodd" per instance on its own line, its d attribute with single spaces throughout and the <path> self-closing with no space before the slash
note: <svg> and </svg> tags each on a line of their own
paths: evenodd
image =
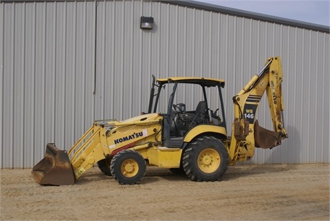
<svg viewBox="0 0 330 221">
<path fill-rule="evenodd" d="M 199 136 L 184 149 L 184 171 L 193 181 L 217 181 L 228 168 L 225 145 L 213 136 Z"/>
</svg>

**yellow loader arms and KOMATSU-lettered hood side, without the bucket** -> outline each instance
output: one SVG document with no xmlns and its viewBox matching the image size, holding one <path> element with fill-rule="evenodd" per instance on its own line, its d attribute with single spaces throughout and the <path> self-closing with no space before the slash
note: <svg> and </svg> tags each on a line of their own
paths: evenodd
<svg viewBox="0 0 330 221">
<path fill-rule="evenodd" d="M 157 114 L 145 114 L 122 122 L 105 121 L 97 120 L 68 152 L 77 180 L 99 160 L 110 159 L 124 149 L 145 149 L 150 143 L 156 143 L 161 128 Z M 140 133 L 135 133 L 137 131 Z"/>
</svg>

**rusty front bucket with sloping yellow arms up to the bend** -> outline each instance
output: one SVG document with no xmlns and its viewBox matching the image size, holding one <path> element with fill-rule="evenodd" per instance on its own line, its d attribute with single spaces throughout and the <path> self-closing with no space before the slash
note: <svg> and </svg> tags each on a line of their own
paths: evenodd
<svg viewBox="0 0 330 221">
<path fill-rule="evenodd" d="M 45 157 L 32 169 L 41 185 L 73 185 L 96 162 L 109 158 L 106 127 L 96 120 L 76 144 L 67 152 L 48 143 Z"/>
</svg>

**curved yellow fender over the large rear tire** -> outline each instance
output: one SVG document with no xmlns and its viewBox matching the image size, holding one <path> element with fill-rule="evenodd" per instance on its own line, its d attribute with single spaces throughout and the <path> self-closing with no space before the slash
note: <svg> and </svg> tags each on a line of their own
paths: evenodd
<svg viewBox="0 0 330 221">
<path fill-rule="evenodd" d="M 225 127 L 219 127 L 215 125 L 198 125 L 188 131 L 188 133 L 184 137 L 184 142 L 188 143 L 193 138 L 203 133 L 216 133 L 222 134 L 223 136 L 227 136 L 227 131 L 225 130 Z"/>
</svg>

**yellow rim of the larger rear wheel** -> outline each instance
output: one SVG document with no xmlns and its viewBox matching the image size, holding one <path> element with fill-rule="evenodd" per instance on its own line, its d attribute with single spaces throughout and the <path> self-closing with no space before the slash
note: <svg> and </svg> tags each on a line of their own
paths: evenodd
<svg viewBox="0 0 330 221">
<path fill-rule="evenodd" d="M 216 171 L 221 162 L 220 155 L 214 149 L 203 149 L 198 155 L 198 167 L 204 173 L 213 173 Z"/>
</svg>

